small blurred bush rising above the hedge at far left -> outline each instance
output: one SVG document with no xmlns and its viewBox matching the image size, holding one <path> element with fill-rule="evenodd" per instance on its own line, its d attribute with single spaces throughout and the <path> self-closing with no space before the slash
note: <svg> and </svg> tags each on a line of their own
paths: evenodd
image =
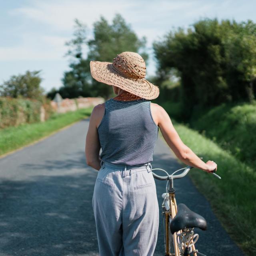
<svg viewBox="0 0 256 256">
<path fill-rule="evenodd" d="M 42 99 L 44 89 L 40 86 L 42 82 L 40 72 L 40 70 L 28 70 L 25 74 L 11 76 L 9 80 L 0 85 L 1 96 L 10 96 L 12 98 L 23 96 L 25 98 Z"/>
</svg>

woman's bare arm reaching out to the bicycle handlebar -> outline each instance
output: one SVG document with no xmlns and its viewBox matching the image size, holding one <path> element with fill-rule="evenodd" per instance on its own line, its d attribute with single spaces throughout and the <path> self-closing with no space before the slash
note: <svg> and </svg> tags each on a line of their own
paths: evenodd
<svg viewBox="0 0 256 256">
<path fill-rule="evenodd" d="M 199 168 L 206 172 L 214 170 L 217 165 L 213 161 L 208 161 L 205 163 L 198 156 L 196 156 L 196 154 L 182 142 L 164 108 L 159 105 L 157 106 L 158 126 L 168 146 L 173 150 L 178 159 L 189 166 Z"/>
</svg>

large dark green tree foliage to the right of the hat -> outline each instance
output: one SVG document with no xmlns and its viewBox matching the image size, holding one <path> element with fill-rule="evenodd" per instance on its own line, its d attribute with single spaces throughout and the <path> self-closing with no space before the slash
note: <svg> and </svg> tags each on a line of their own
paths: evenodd
<svg viewBox="0 0 256 256">
<path fill-rule="evenodd" d="M 162 80 L 170 70 L 181 78 L 183 112 L 226 101 L 254 100 L 256 24 L 204 19 L 154 42 Z M 168 95 L 167 95 L 168 96 Z"/>
</svg>

